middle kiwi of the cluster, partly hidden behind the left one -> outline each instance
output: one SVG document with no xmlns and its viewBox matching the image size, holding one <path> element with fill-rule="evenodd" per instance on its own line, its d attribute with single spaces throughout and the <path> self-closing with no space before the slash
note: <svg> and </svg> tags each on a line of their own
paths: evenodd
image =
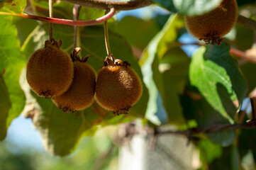
<svg viewBox="0 0 256 170">
<path fill-rule="evenodd" d="M 80 111 L 87 108 L 94 101 L 96 72 L 87 64 L 89 56 L 80 59 L 77 52 L 73 55 L 74 79 L 69 89 L 62 95 L 52 99 L 53 103 L 65 113 Z"/>
</svg>

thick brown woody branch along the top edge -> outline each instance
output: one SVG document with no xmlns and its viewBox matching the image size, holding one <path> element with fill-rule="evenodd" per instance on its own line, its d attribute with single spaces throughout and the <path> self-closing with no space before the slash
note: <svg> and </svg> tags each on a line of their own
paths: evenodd
<svg viewBox="0 0 256 170">
<path fill-rule="evenodd" d="M 152 1 L 150 0 L 135 0 L 135 1 L 105 1 L 105 0 L 61 0 L 67 1 L 81 6 L 88 6 L 92 8 L 115 8 L 116 11 L 126 11 L 135 8 L 143 8 L 150 6 Z"/>
</svg>

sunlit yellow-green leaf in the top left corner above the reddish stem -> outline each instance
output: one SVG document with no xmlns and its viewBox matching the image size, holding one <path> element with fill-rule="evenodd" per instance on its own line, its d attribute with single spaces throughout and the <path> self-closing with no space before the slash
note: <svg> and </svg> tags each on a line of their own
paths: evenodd
<svg viewBox="0 0 256 170">
<path fill-rule="evenodd" d="M 0 2 L 0 11 L 8 13 L 23 13 L 27 0 L 4 0 Z"/>
</svg>

